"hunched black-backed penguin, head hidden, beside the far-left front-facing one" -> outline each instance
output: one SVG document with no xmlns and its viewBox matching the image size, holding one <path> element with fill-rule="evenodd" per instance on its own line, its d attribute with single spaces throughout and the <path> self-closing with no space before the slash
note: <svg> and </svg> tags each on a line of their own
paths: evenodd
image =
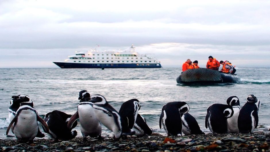
<svg viewBox="0 0 270 152">
<path fill-rule="evenodd" d="M 62 111 L 54 110 L 45 115 L 44 120 L 49 127 L 49 136 L 54 138 L 56 141 L 62 140 L 67 141 L 76 137 L 77 131 L 70 131 L 67 128 L 67 122 L 70 120 L 71 115 L 66 114 Z M 72 125 L 72 129 L 77 126 L 77 121 Z M 43 128 L 44 129 L 44 128 Z"/>
</svg>

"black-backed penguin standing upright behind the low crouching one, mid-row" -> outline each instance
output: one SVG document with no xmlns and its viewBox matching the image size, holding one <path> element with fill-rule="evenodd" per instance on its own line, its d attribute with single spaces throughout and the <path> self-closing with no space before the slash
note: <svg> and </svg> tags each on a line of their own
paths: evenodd
<svg viewBox="0 0 270 152">
<path fill-rule="evenodd" d="M 118 113 L 121 116 L 121 118 L 126 122 L 125 123 L 126 128 L 129 129 L 133 128 L 139 110 L 140 110 L 140 101 L 137 99 L 128 100 L 121 105 Z"/>
</svg>

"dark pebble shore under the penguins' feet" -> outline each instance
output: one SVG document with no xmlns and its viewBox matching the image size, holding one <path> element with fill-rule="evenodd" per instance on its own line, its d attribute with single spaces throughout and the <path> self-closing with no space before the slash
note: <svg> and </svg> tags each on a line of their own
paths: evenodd
<svg viewBox="0 0 270 152">
<path fill-rule="evenodd" d="M 152 136 L 136 137 L 115 140 L 105 138 L 103 141 L 90 140 L 82 137 L 70 141 L 51 141 L 50 139 L 35 138 L 34 143 L 27 145 L 18 143 L 15 139 L 0 139 L 1 151 L 132 151 L 132 152 L 196 152 L 196 151 L 269 151 L 270 134 L 257 131 L 252 134 L 212 134 L 190 136 Z"/>
</svg>

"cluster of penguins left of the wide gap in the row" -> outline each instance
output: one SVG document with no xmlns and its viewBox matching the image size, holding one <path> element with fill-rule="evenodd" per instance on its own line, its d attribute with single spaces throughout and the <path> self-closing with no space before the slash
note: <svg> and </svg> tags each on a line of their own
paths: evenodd
<svg viewBox="0 0 270 152">
<path fill-rule="evenodd" d="M 152 130 L 146 120 L 138 111 L 140 101 L 131 99 L 122 104 L 117 112 L 102 95 L 90 95 L 86 90 L 79 93 L 79 105 L 73 115 L 54 110 L 42 119 L 28 95 L 12 96 L 9 107 L 9 120 L 11 120 L 6 134 L 10 128 L 20 142 L 33 142 L 35 137 L 44 137 L 38 128 L 38 121 L 43 130 L 55 140 L 67 141 L 75 138 L 77 131 L 73 130 L 80 119 L 80 129 L 83 140 L 87 136 L 92 139 L 102 139 L 101 123 L 114 133 L 116 139 L 127 135 L 151 135 Z"/>
</svg>

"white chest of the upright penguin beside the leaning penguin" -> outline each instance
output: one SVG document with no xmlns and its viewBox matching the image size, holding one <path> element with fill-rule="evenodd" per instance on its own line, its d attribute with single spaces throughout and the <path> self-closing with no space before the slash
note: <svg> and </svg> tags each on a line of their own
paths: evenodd
<svg viewBox="0 0 270 152">
<path fill-rule="evenodd" d="M 79 105 L 78 113 L 81 127 L 91 129 L 100 126 L 99 120 L 95 115 L 94 108 L 91 105 Z"/>
</svg>

